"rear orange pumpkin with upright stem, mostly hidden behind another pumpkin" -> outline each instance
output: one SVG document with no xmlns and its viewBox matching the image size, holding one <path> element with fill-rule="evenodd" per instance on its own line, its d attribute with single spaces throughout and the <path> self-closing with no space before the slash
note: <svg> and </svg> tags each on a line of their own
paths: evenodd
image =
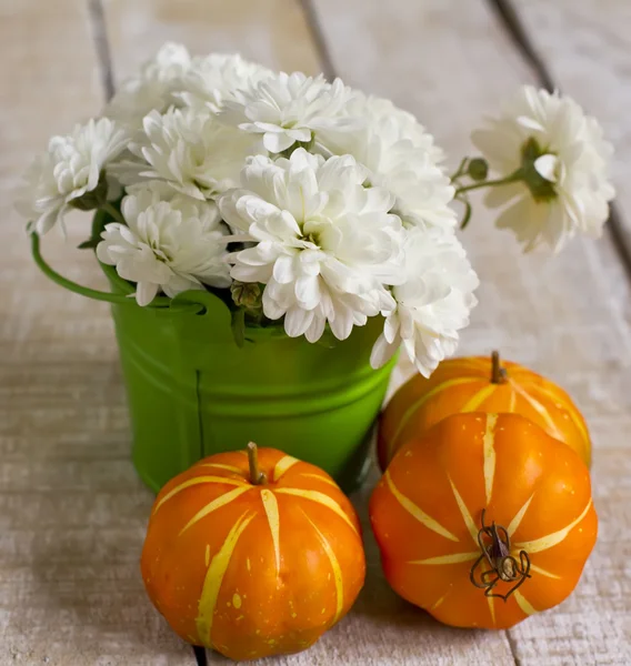
<svg viewBox="0 0 631 666">
<path fill-rule="evenodd" d="M 414 375 L 394 394 L 379 424 L 381 470 L 408 440 L 459 412 L 511 412 L 537 423 L 591 463 L 588 426 L 570 396 L 541 375 L 499 355 L 443 361 L 427 380 Z"/>
</svg>

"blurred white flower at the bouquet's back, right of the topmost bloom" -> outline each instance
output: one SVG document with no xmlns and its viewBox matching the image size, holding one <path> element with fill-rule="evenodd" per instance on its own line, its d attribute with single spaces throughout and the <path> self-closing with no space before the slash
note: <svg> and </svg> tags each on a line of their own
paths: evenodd
<svg viewBox="0 0 631 666">
<path fill-rule="evenodd" d="M 218 113 L 227 100 L 237 100 L 239 91 L 251 90 L 271 77 L 272 70 L 244 60 L 239 54 L 211 53 L 193 59 L 182 78 L 182 91 L 174 93 L 174 97 L 188 107 L 207 108 Z"/>
</svg>

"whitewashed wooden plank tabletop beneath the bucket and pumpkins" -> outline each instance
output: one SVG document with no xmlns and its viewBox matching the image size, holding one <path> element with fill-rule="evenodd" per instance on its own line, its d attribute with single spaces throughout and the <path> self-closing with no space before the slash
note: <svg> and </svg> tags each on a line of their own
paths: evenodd
<svg viewBox="0 0 631 666">
<path fill-rule="evenodd" d="M 129 462 L 108 309 L 38 273 L 11 210 L 32 153 L 98 113 L 167 39 L 338 74 L 417 113 L 453 160 L 525 81 L 551 80 L 602 119 L 620 195 L 600 242 L 523 256 L 483 212 L 464 234 L 482 286 L 461 351 L 500 347 L 559 381 L 593 434 L 600 538 L 577 592 L 509 632 L 450 629 L 388 588 L 367 531 L 368 581 L 350 616 L 308 653 L 266 664 L 631 664 L 631 6 L 509 2 L 0 0 L 1 666 L 193 663 L 142 591 L 152 497 Z M 46 252 L 100 284 L 90 253 L 49 238 Z M 355 497 L 363 514 L 368 492 Z"/>
</svg>

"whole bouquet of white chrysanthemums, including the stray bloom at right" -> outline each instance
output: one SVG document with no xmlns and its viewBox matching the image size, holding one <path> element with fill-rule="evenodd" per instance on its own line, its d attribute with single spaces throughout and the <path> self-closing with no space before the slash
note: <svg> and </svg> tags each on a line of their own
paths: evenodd
<svg viewBox="0 0 631 666">
<path fill-rule="evenodd" d="M 20 209 L 33 234 L 69 209 L 107 216 L 86 246 L 139 306 L 208 290 L 246 327 L 318 342 L 383 329 L 370 361 L 400 347 L 429 376 L 455 351 L 478 278 L 452 201 L 491 188 L 498 225 L 527 250 L 597 235 L 613 196 L 611 148 L 572 100 L 523 88 L 451 176 L 413 115 L 339 79 L 273 72 L 239 56 L 166 44 L 103 115 L 51 139 Z"/>
</svg>

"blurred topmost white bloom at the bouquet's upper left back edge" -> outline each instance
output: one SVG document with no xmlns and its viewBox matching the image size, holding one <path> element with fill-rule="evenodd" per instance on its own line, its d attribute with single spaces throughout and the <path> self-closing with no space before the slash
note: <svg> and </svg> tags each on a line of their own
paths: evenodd
<svg viewBox="0 0 631 666">
<path fill-rule="evenodd" d="M 167 42 L 138 74 L 120 84 L 104 114 L 131 128 L 140 127 L 147 113 L 166 111 L 176 101 L 173 93 L 182 89 L 192 62 L 186 47 Z"/>
</svg>

